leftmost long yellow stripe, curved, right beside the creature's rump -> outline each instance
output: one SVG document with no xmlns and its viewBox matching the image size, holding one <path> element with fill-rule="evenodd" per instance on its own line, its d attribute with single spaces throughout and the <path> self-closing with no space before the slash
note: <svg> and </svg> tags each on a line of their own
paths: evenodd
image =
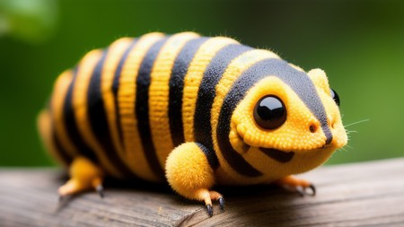
<svg viewBox="0 0 404 227">
<path fill-rule="evenodd" d="M 75 157 L 78 151 L 67 135 L 64 116 L 65 112 L 63 110 L 66 93 L 70 83 L 72 83 L 72 79 L 73 72 L 71 70 L 65 71 L 63 74 L 59 75 L 52 95 L 51 108 L 57 138 L 59 138 L 60 144 L 66 149 L 66 152 L 69 153 L 70 156 Z"/>
</svg>

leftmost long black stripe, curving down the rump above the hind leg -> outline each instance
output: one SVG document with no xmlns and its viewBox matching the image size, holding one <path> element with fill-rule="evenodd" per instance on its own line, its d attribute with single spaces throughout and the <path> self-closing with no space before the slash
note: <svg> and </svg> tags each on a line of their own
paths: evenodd
<svg viewBox="0 0 404 227">
<path fill-rule="evenodd" d="M 85 144 L 82 136 L 78 130 L 76 121 L 75 121 L 75 110 L 73 107 L 73 90 L 75 87 L 75 80 L 77 78 L 78 68 L 73 70 L 74 75 L 72 82 L 69 84 L 67 89 L 65 103 L 63 105 L 63 113 L 64 113 L 64 124 L 66 127 L 67 136 L 70 138 L 70 141 L 75 145 L 75 148 L 78 150 L 77 153 L 83 154 L 86 158 L 94 162 L 95 164 L 99 163 L 97 156 L 94 151 Z"/>
</svg>

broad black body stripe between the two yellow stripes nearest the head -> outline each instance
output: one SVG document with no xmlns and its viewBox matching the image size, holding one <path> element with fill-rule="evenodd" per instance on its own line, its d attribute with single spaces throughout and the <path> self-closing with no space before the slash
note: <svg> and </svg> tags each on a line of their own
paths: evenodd
<svg viewBox="0 0 404 227">
<path fill-rule="evenodd" d="M 214 145 L 210 118 L 212 105 L 215 100 L 216 84 L 219 83 L 232 60 L 251 49 L 240 44 L 228 45 L 219 50 L 206 67 L 198 90 L 194 115 L 194 135 L 196 141 L 204 144 L 211 151 L 214 151 Z"/>
</svg>

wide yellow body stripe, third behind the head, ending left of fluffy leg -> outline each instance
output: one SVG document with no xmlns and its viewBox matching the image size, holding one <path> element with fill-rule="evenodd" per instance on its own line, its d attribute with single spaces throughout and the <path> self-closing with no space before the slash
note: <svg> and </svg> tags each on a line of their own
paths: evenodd
<svg viewBox="0 0 404 227">
<path fill-rule="evenodd" d="M 171 141 L 168 118 L 171 69 L 180 49 L 190 39 L 198 38 L 194 32 L 183 32 L 167 40 L 154 61 L 149 88 L 149 119 L 155 152 L 162 166 L 174 145 Z"/>
</svg>

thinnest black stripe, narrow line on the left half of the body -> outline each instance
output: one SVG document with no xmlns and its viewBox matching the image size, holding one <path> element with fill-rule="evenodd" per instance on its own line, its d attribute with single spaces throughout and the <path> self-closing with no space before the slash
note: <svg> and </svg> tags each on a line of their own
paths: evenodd
<svg viewBox="0 0 404 227">
<path fill-rule="evenodd" d="M 120 80 L 120 74 L 122 74 L 122 68 L 123 65 L 125 64 L 127 60 L 127 56 L 129 56 L 130 51 L 132 51 L 132 48 L 135 47 L 137 43 L 137 39 L 134 39 L 132 43 L 129 45 L 127 50 L 125 50 L 125 53 L 123 54 L 122 58 L 119 60 L 119 64 L 117 66 L 117 70 L 115 71 L 114 75 L 114 81 L 112 83 L 112 92 L 114 94 L 114 105 L 115 105 L 115 120 L 116 120 L 116 125 L 118 128 L 118 137 L 119 137 L 119 144 L 122 144 L 122 147 L 124 147 L 125 150 L 125 144 L 123 143 L 123 133 L 122 133 L 122 126 L 121 126 L 121 117 L 120 117 L 120 112 L 119 112 L 119 100 L 118 100 L 118 93 L 119 93 L 119 80 Z"/>
</svg>

